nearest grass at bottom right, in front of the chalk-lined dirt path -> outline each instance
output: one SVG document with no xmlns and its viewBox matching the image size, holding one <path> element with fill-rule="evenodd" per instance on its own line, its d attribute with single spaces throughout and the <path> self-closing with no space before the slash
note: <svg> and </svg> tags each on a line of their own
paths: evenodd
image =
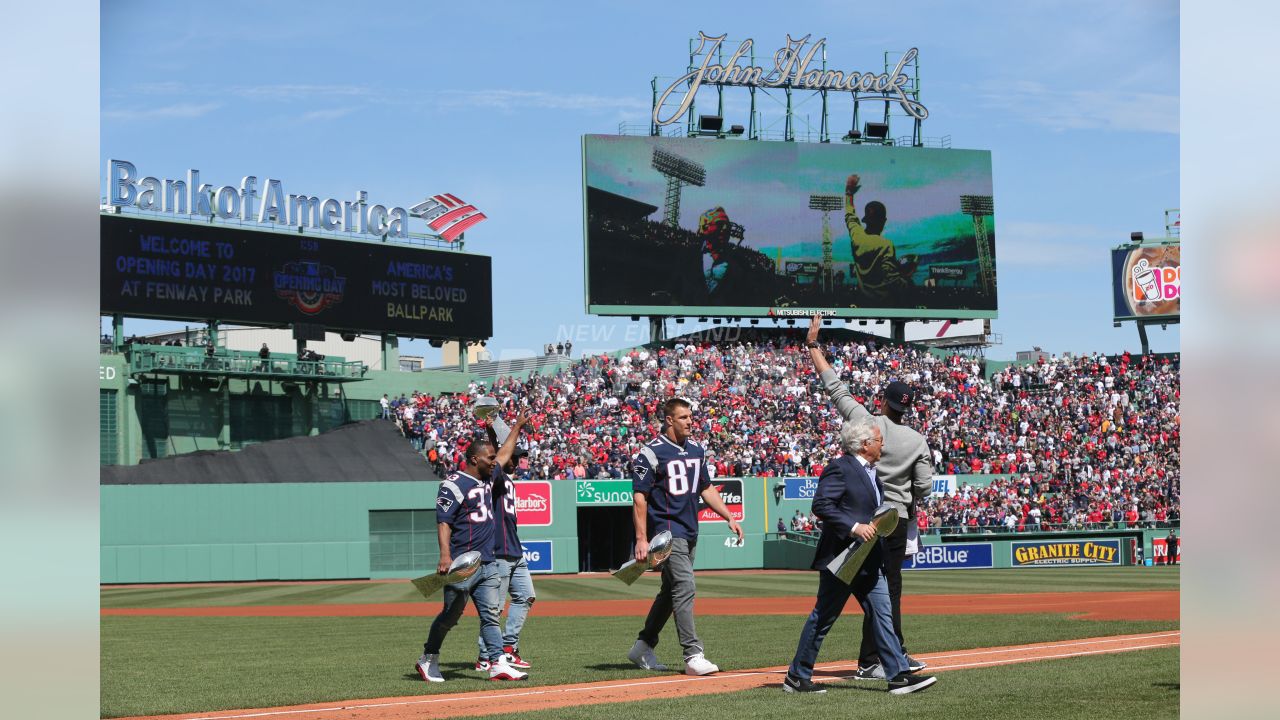
<svg viewBox="0 0 1280 720">
<path fill-rule="evenodd" d="M 765 688 L 522 712 L 525 720 L 631 717 L 911 717 L 911 720 L 1097 720 L 1178 717 L 1179 648 L 1142 650 L 952 670 L 919 693 L 895 697 L 883 682 L 836 680 L 823 694 L 788 694 Z M 481 717 L 508 716 L 495 712 Z"/>
</svg>

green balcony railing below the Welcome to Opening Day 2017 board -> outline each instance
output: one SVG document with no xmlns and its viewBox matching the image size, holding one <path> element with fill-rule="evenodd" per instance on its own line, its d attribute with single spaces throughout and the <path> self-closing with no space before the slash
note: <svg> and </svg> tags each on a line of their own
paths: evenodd
<svg viewBox="0 0 1280 720">
<path fill-rule="evenodd" d="M 216 350 L 212 355 L 202 347 L 133 345 L 127 350 L 129 374 L 172 373 L 201 375 L 238 375 L 273 379 L 321 379 L 325 382 L 361 380 L 369 366 L 348 363 L 343 357 L 298 360 L 293 355 Z"/>
</svg>

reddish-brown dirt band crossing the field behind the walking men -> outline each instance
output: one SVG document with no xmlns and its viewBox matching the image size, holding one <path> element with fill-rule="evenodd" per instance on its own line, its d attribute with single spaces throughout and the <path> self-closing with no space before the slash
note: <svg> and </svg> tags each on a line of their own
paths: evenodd
<svg viewBox="0 0 1280 720">
<path fill-rule="evenodd" d="M 902 598 L 902 612 L 910 615 L 1009 615 L 1066 612 L 1085 620 L 1178 620 L 1178 591 L 1098 592 L 1098 593 L 1002 593 L 1002 594 L 922 594 Z M 652 600 L 562 600 L 538 601 L 543 616 L 618 618 L 644 615 Z M 812 596 L 699 598 L 699 615 L 804 615 L 813 610 Z M 387 602 L 360 605 L 243 605 L 210 607 L 114 607 L 108 615 L 152 615 L 182 618 L 375 618 L 420 616 L 439 612 L 439 602 Z M 850 603 L 847 612 L 861 612 Z M 475 609 L 467 606 L 467 614 Z"/>
</svg>

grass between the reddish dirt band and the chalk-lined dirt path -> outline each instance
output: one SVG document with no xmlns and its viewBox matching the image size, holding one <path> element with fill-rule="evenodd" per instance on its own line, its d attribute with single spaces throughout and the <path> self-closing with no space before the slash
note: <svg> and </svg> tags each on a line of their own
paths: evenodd
<svg viewBox="0 0 1280 720">
<path fill-rule="evenodd" d="M 521 651 L 531 685 L 649 676 L 626 660 L 640 618 L 538 618 Z M 804 616 L 703 616 L 708 657 L 724 670 L 785 665 Z M 492 688 L 474 671 L 474 618 L 463 618 L 442 651 L 447 683 L 422 683 L 413 661 L 429 618 L 102 618 L 104 716 L 216 711 L 351 698 Z M 861 618 L 841 619 L 820 661 L 858 655 Z M 1066 615 L 911 616 L 909 650 L 940 652 L 1176 629 L 1176 623 L 1083 621 Z M 658 656 L 676 666 L 675 626 Z M 1038 691 L 1037 691 L 1038 692 Z M 861 697 L 861 696 L 859 696 Z M 1025 710 L 1025 708 L 1024 708 Z M 968 715 L 966 715 L 968 716 Z"/>
</svg>

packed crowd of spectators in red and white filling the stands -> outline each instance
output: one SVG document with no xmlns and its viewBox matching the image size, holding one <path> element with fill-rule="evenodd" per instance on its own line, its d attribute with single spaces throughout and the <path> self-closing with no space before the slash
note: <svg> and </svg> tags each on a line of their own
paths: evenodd
<svg viewBox="0 0 1280 720">
<path fill-rule="evenodd" d="M 986 380 L 982 360 L 965 355 L 874 340 L 831 342 L 826 351 L 872 411 L 890 379 L 918 388 L 905 421 L 928 439 L 934 473 L 957 478 L 954 495 L 922 505 L 925 532 L 1179 520 L 1176 360 L 1047 357 Z M 778 340 L 595 355 L 554 375 L 402 396 L 390 402 L 392 416 L 443 475 L 477 429 L 470 405 L 481 395 L 511 416 L 531 414 L 522 479 L 625 478 L 628 460 L 659 432 L 660 404 L 672 395 L 696 404 L 694 438 L 713 477 L 817 475 L 838 445 L 840 416 L 808 355 Z M 1004 477 L 977 487 L 965 482 L 972 474 Z"/>
</svg>

